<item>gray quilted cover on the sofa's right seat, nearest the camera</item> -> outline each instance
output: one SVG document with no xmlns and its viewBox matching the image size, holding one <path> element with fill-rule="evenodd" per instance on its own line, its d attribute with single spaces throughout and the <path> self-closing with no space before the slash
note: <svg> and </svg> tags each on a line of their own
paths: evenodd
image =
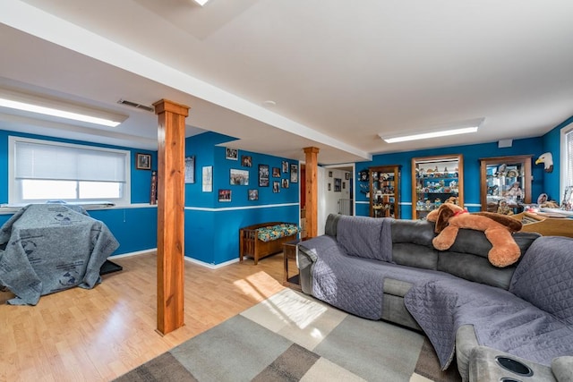
<svg viewBox="0 0 573 382">
<path fill-rule="evenodd" d="M 463 279 L 417 284 L 404 297 L 447 369 L 458 327 L 474 325 L 479 344 L 550 366 L 573 355 L 573 327 L 504 289 Z"/>
</svg>

